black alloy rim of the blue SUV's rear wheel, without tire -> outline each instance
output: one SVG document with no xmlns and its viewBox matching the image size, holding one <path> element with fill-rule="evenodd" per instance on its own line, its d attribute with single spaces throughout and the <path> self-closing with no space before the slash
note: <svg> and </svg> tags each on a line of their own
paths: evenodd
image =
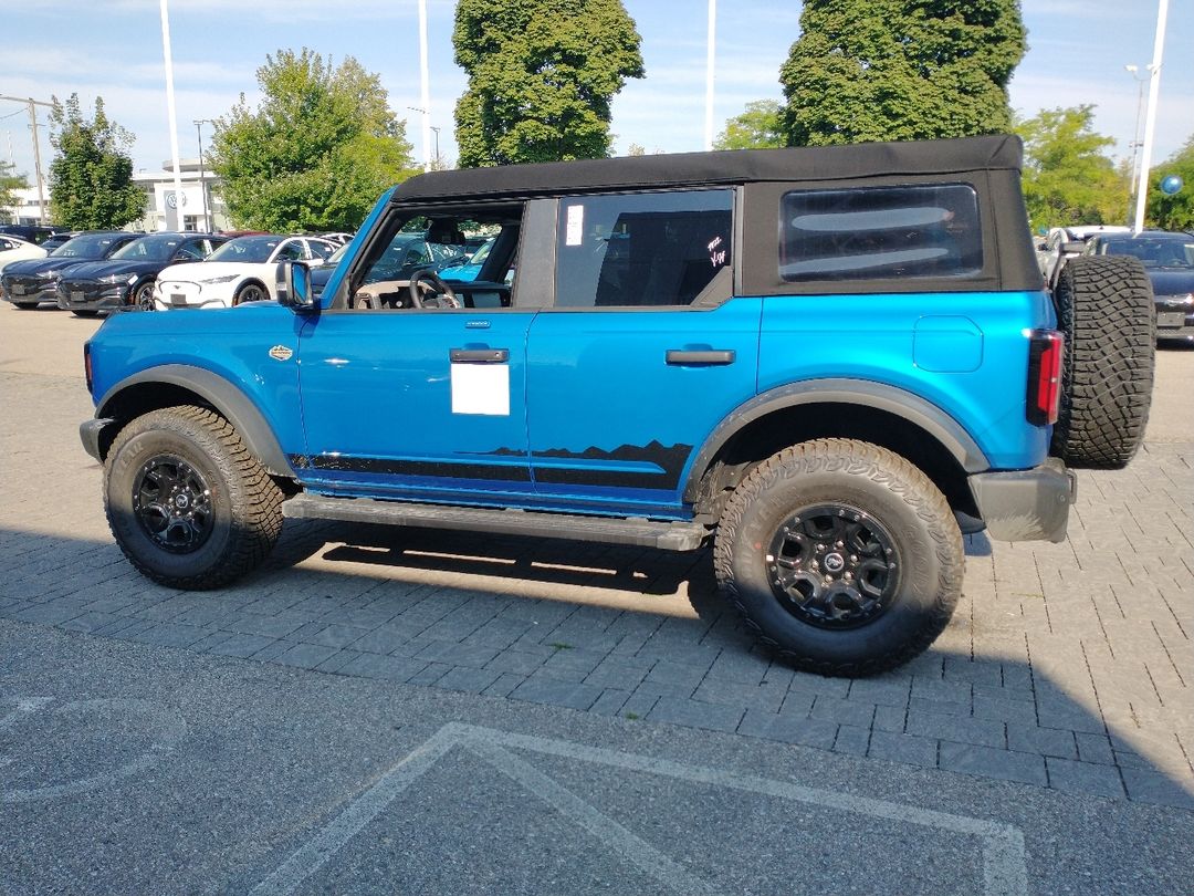
<svg viewBox="0 0 1194 896">
<path fill-rule="evenodd" d="M 882 524 L 848 504 L 814 504 L 788 517 L 767 554 L 771 593 L 821 628 L 874 621 L 898 594 L 900 565 Z"/>
</svg>

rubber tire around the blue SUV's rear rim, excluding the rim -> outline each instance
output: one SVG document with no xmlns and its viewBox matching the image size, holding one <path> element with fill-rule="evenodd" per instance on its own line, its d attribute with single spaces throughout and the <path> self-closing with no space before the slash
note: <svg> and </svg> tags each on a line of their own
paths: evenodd
<svg viewBox="0 0 1194 896">
<path fill-rule="evenodd" d="M 790 515 L 812 505 L 856 508 L 891 536 L 898 578 L 882 612 L 855 627 L 798 618 L 773 590 L 769 545 Z M 961 533 L 944 496 L 919 470 L 878 446 L 821 438 L 786 448 L 734 490 L 714 544 L 722 593 L 784 662 L 821 675 L 873 675 L 923 651 L 961 594 Z"/>
</svg>

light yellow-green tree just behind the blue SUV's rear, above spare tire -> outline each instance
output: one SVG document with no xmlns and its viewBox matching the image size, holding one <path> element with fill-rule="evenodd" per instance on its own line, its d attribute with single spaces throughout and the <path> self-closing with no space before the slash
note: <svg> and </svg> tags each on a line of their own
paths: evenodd
<svg viewBox="0 0 1194 896">
<path fill-rule="evenodd" d="M 1016 122 L 1024 141 L 1024 203 L 1033 228 L 1122 223 L 1131 185 L 1104 154 L 1115 141 L 1091 129 L 1094 106 L 1042 109 Z"/>
</svg>

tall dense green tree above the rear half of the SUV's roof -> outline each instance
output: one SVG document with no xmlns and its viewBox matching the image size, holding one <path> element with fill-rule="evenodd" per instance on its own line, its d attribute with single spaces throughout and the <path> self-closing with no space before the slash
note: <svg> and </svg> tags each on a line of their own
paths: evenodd
<svg viewBox="0 0 1194 896">
<path fill-rule="evenodd" d="M 1018 0 L 806 0 L 780 69 L 789 146 L 1007 131 Z"/>
</svg>

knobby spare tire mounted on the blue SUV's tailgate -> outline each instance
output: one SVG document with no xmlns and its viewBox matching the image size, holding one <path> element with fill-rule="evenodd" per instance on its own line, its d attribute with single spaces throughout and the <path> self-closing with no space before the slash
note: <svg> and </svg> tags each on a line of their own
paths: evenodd
<svg viewBox="0 0 1194 896">
<path fill-rule="evenodd" d="M 1079 256 L 1058 274 L 1053 300 L 1065 362 L 1052 452 L 1071 467 L 1120 470 L 1149 423 L 1157 343 L 1152 286 L 1138 258 Z"/>
</svg>

